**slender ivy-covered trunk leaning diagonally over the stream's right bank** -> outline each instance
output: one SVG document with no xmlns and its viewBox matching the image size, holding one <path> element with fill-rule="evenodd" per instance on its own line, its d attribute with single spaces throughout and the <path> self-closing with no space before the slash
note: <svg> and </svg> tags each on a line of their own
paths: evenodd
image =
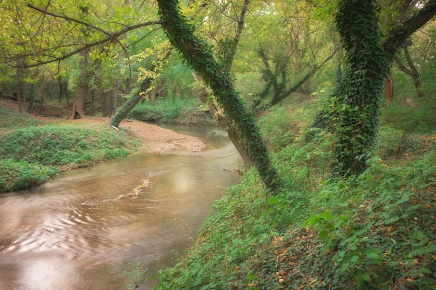
<svg viewBox="0 0 436 290">
<path fill-rule="evenodd" d="M 162 26 L 171 44 L 179 49 L 187 62 L 210 86 L 224 113 L 240 131 L 241 138 L 247 144 L 249 158 L 265 186 L 271 191 L 277 191 L 281 187 L 281 179 L 272 167 L 270 154 L 260 136 L 254 116 L 245 108 L 230 76 L 221 70 L 207 45 L 196 38 L 192 28 L 186 24 L 178 10 L 178 1 L 158 0 L 157 3 L 162 13 Z"/>
</svg>

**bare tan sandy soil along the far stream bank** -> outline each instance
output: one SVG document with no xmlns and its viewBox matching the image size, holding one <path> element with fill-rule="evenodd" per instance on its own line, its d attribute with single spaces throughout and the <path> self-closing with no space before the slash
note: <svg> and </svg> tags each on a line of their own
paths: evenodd
<svg viewBox="0 0 436 290">
<path fill-rule="evenodd" d="M 6 106 L 13 111 L 18 111 L 17 102 L 0 99 L 0 106 Z M 26 105 L 24 106 L 26 107 Z M 90 117 L 86 119 L 70 120 L 65 116 L 65 108 L 59 105 L 38 105 L 35 114 L 27 114 L 30 118 L 56 122 L 60 124 L 81 124 L 86 127 L 98 128 L 99 124 L 108 124 L 108 118 Z M 108 124 L 109 126 L 109 124 Z M 118 129 L 128 129 L 142 142 L 139 152 L 166 153 L 174 150 L 201 151 L 205 144 L 198 138 L 178 134 L 175 131 L 164 129 L 154 124 L 139 122 L 136 120 L 123 120 Z"/>
</svg>

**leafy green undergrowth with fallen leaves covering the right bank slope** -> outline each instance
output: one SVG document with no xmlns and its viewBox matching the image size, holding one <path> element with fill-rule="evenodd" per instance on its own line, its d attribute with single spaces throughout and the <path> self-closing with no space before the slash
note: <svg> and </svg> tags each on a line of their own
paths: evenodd
<svg viewBox="0 0 436 290">
<path fill-rule="evenodd" d="M 332 179 L 332 136 L 262 125 L 286 189 L 248 170 L 156 289 L 435 289 L 434 139 L 384 127 L 368 169 Z"/>
</svg>

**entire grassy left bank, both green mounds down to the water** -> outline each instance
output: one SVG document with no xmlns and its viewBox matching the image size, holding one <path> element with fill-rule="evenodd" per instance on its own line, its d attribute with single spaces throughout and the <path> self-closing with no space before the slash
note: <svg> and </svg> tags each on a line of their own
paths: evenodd
<svg viewBox="0 0 436 290">
<path fill-rule="evenodd" d="M 0 138 L 0 192 L 31 188 L 47 182 L 59 169 L 91 166 L 135 150 L 128 131 L 113 131 L 104 124 L 93 128 L 46 124 L 5 108 L 1 112 L 15 123 L 10 127 L 9 121 L 0 119 L 8 129 Z"/>
</svg>

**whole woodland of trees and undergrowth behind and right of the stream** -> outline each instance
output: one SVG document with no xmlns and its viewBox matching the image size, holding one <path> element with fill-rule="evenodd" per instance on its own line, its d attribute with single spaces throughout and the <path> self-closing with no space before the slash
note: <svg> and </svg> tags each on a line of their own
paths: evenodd
<svg viewBox="0 0 436 290">
<path fill-rule="evenodd" d="M 242 187 L 162 289 L 433 289 L 435 14 L 435 0 L 1 1 L 0 98 L 226 129 Z"/>
</svg>

